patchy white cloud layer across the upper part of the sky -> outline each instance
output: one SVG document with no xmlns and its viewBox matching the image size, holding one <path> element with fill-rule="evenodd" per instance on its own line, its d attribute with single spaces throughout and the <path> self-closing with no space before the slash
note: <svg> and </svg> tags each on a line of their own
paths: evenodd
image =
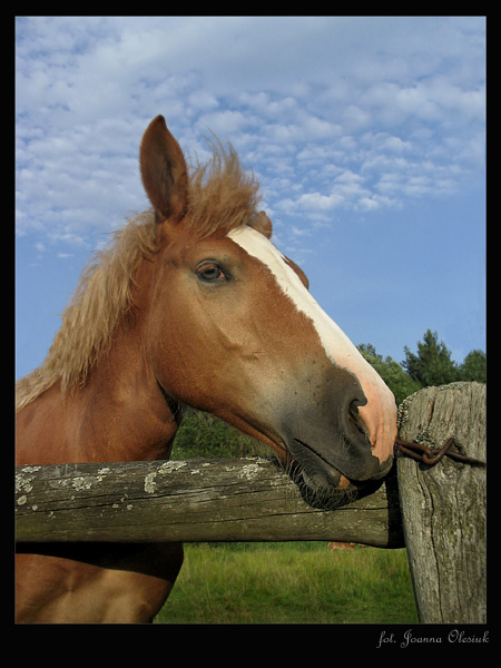
<svg viewBox="0 0 501 668">
<path fill-rule="evenodd" d="M 92 246 L 147 205 L 137 155 L 157 114 L 202 159 L 208 130 L 230 140 L 278 216 L 402 206 L 453 193 L 483 166 L 481 19 L 17 26 L 17 224 L 19 234 L 45 233 L 35 243 L 47 247 Z"/>
</svg>

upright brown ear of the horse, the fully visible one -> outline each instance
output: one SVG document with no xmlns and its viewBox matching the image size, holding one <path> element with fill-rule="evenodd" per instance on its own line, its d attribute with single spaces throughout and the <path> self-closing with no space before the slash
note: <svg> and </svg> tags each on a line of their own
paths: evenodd
<svg viewBox="0 0 501 668">
<path fill-rule="evenodd" d="M 183 151 L 163 116 L 146 129 L 139 163 L 143 185 L 159 219 L 180 220 L 188 204 L 188 175 Z"/>
</svg>

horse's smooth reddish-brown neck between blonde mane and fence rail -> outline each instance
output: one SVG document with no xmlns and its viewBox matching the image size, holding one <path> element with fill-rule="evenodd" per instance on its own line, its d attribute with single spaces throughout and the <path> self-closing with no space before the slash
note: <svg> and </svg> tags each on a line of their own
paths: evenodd
<svg viewBox="0 0 501 668">
<path fill-rule="evenodd" d="M 18 463 L 167 459 L 178 423 L 143 357 L 116 341 L 82 389 L 55 385 L 22 409 Z"/>
</svg>

